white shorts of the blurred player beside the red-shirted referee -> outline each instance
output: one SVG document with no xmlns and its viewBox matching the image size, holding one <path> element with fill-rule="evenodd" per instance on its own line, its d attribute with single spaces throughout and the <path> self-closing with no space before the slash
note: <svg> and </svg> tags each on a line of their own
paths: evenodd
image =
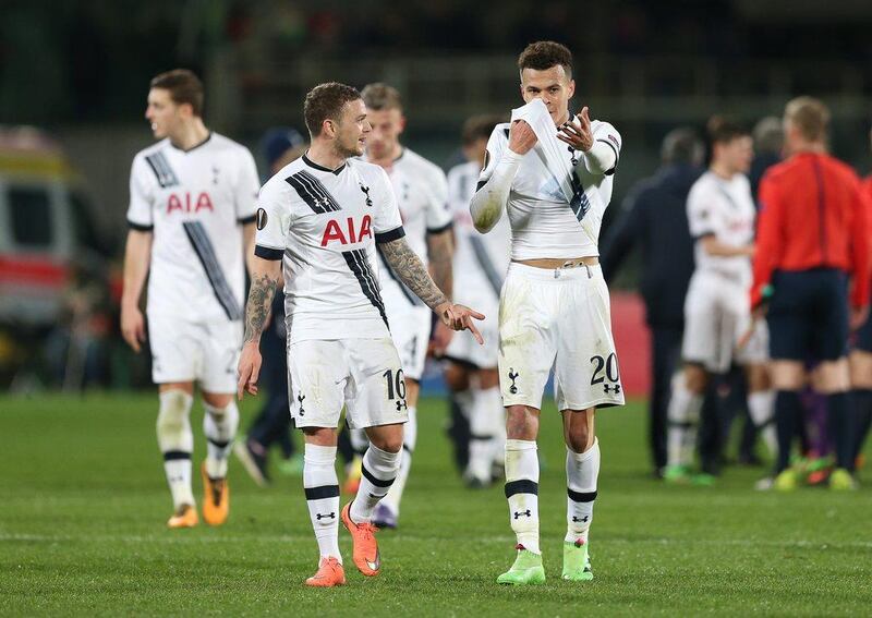
<svg viewBox="0 0 872 618">
<path fill-rule="evenodd" d="M 763 320 L 754 326 L 747 346 L 737 350 L 739 339 L 751 326 L 748 287 L 717 272 L 698 271 L 690 280 L 685 300 L 685 337 L 681 356 L 712 373 L 739 364 L 762 363 L 768 358 L 768 330 Z"/>
</svg>

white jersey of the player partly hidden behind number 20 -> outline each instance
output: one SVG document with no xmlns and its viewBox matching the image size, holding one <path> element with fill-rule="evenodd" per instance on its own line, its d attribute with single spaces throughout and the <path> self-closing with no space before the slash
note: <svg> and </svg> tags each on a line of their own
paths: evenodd
<svg viewBox="0 0 872 618">
<path fill-rule="evenodd" d="M 448 204 L 455 220 L 455 299 L 464 304 L 482 295 L 499 298 L 511 254 L 511 228 L 506 217 L 500 217 L 486 234 L 479 233 L 472 222 L 470 199 L 480 172 L 474 161 L 448 171 Z"/>
</svg>

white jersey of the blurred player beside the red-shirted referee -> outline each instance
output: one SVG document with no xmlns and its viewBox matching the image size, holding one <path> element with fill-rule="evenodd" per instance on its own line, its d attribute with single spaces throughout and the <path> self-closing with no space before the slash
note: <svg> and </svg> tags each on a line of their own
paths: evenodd
<svg viewBox="0 0 872 618">
<path fill-rule="evenodd" d="M 724 180 L 707 171 L 693 183 L 688 194 L 688 222 L 690 235 L 694 239 L 714 234 L 719 242 L 731 246 L 750 244 L 754 239 L 755 216 L 751 183 L 741 173 Z M 708 255 L 699 241 L 694 256 L 697 270 L 717 271 L 743 284 L 751 282 L 750 257 Z"/>
</svg>

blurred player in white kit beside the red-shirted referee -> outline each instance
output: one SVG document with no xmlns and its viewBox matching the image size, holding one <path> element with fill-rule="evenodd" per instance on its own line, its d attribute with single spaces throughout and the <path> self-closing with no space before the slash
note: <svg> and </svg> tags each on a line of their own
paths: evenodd
<svg viewBox="0 0 872 618">
<path fill-rule="evenodd" d="M 708 122 L 708 133 L 712 161 L 691 187 L 687 203 L 690 235 L 697 239 L 697 269 L 685 300 L 683 368 L 673 380 L 667 412 L 664 480 L 668 483 L 713 481 L 707 474 L 690 474 L 697 425 L 712 374 L 726 372 L 734 360 L 746 365 L 748 410 L 754 424 L 767 426 L 772 419 L 764 326 L 758 324 L 751 341 L 738 350 L 752 323 L 748 289 L 755 207 L 744 174 L 751 165 L 753 143 L 744 129 L 719 117 Z M 774 449 L 774 433 L 771 427 L 766 431 Z"/>
</svg>

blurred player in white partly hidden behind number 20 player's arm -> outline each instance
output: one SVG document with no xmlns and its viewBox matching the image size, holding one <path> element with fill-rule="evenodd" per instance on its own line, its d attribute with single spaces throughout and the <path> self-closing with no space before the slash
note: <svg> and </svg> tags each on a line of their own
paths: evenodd
<svg viewBox="0 0 872 618">
<path fill-rule="evenodd" d="M 468 161 L 448 171 L 448 203 L 455 220 L 457 251 L 453 259 L 455 300 L 497 315 L 499 291 L 509 266 L 509 222 L 501 218 L 486 235 L 475 231 L 470 198 L 484 168 L 487 141 L 496 116 L 475 116 L 463 125 L 463 154 Z M 445 379 L 470 422 L 469 462 L 463 478 L 470 487 L 493 483 L 493 469 L 502 468 L 506 446 L 506 413 L 499 393 L 496 320 L 482 324 L 484 346 L 469 337 L 455 337 L 441 354 L 448 361 Z"/>
</svg>

